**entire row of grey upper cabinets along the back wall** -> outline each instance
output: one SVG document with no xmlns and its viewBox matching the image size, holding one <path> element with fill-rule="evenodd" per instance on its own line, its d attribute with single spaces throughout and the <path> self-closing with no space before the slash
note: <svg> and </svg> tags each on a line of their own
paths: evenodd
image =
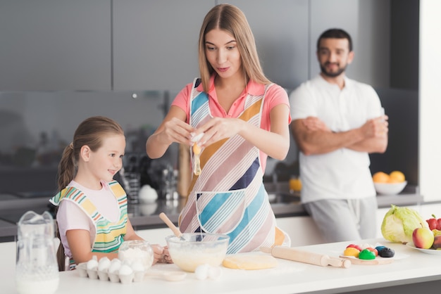
<svg viewBox="0 0 441 294">
<path fill-rule="evenodd" d="M 0 0 L 0 91 L 178 91 L 199 75 L 199 28 L 221 2 Z M 354 38 L 348 75 L 389 87 L 390 0 L 228 2 L 247 15 L 263 70 L 282 87 L 318 73 L 316 39 L 329 27 Z"/>
</svg>

